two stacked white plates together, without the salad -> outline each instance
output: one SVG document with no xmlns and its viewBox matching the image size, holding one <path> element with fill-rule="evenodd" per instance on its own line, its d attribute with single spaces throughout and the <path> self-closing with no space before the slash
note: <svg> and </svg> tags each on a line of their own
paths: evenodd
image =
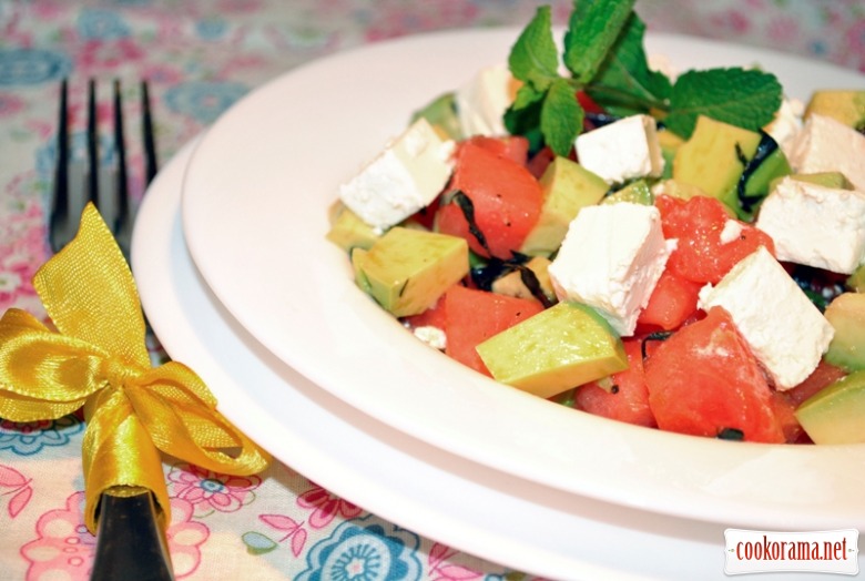
<svg viewBox="0 0 865 581">
<path fill-rule="evenodd" d="M 397 524 L 556 579 L 724 578 L 724 529 L 865 527 L 865 446 L 691 438 L 502 387 L 414 339 L 325 239 L 339 183 L 415 109 L 502 62 L 518 30 L 337 54 L 254 91 L 171 161 L 133 271 L 169 354 L 311 480 Z M 649 35 L 685 68 L 759 64 L 791 96 L 862 75 Z M 863 561 L 861 561 L 862 563 Z"/>
</svg>

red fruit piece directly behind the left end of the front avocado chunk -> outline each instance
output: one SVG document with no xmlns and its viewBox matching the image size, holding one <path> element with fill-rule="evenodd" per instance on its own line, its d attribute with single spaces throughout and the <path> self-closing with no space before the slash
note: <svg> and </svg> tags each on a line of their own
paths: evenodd
<svg viewBox="0 0 865 581">
<path fill-rule="evenodd" d="M 445 293 L 447 347 L 445 353 L 459 363 L 490 376 L 475 350 L 478 344 L 543 310 L 538 300 L 499 295 L 460 285 Z"/>
</svg>

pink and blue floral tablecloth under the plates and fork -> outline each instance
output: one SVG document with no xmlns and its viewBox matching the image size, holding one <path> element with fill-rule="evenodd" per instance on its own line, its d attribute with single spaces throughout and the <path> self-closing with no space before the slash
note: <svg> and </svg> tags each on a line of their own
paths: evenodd
<svg viewBox="0 0 865 581">
<path fill-rule="evenodd" d="M 571 2 L 554 0 L 563 23 Z M 0 313 L 44 316 L 31 277 L 47 261 L 47 201 L 55 159 L 59 81 L 73 89 L 83 135 L 88 78 L 150 79 L 159 155 L 167 161 L 244 93 L 312 59 L 437 29 L 521 26 L 518 0 L 0 0 Z M 650 30 L 772 47 L 865 71 L 858 0 L 647 0 Z M 134 113 L 134 104 L 131 104 Z M 104 111 L 103 111 L 104 109 Z M 110 108 L 100 109 L 110 115 Z M 81 140 L 79 140 L 81 141 Z M 130 142 L 134 140 L 129 140 Z M 131 143 L 133 196 L 143 194 Z M 154 346 L 154 357 L 159 357 Z M 0 577 L 86 579 L 94 538 L 82 523 L 82 417 L 0 420 Z M 164 465 L 170 549 L 180 579 L 522 579 L 386 522 L 274 463 L 253 477 Z M 357 536 L 389 551 L 387 570 L 352 554 Z M 374 539 L 373 539 L 374 538 Z M 383 542 L 384 541 L 384 542 Z M 444 541 L 444 542 L 442 542 Z M 338 555 L 337 574 L 323 570 Z"/>
</svg>

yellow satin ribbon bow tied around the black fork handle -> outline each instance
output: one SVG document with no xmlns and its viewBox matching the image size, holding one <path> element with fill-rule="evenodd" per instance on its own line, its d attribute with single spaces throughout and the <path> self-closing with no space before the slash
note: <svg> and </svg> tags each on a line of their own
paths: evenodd
<svg viewBox="0 0 865 581">
<path fill-rule="evenodd" d="M 0 417 L 57 419 L 83 406 L 91 532 L 101 495 L 118 486 L 152 490 L 163 523 L 171 521 L 157 450 L 235 476 L 266 468 L 268 455 L 216 410 L 192 369 L 176 361 L 151 367 L 135 282 L 92 204 L 33 286 L 59 333 L 20 309 L 0 319 Z"/>
</svg>

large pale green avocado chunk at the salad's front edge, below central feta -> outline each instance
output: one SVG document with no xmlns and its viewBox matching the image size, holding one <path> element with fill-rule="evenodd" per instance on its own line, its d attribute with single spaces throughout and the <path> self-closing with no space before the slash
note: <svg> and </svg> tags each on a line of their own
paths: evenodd
<svg viewBox="0 0 865 581">
<path fill-rule="evenodd" d="M 628 368 L 622 342 L 593 308 L 561 302 L 477 346 L 492 377 L 549 398 Z"/>
</svg>

